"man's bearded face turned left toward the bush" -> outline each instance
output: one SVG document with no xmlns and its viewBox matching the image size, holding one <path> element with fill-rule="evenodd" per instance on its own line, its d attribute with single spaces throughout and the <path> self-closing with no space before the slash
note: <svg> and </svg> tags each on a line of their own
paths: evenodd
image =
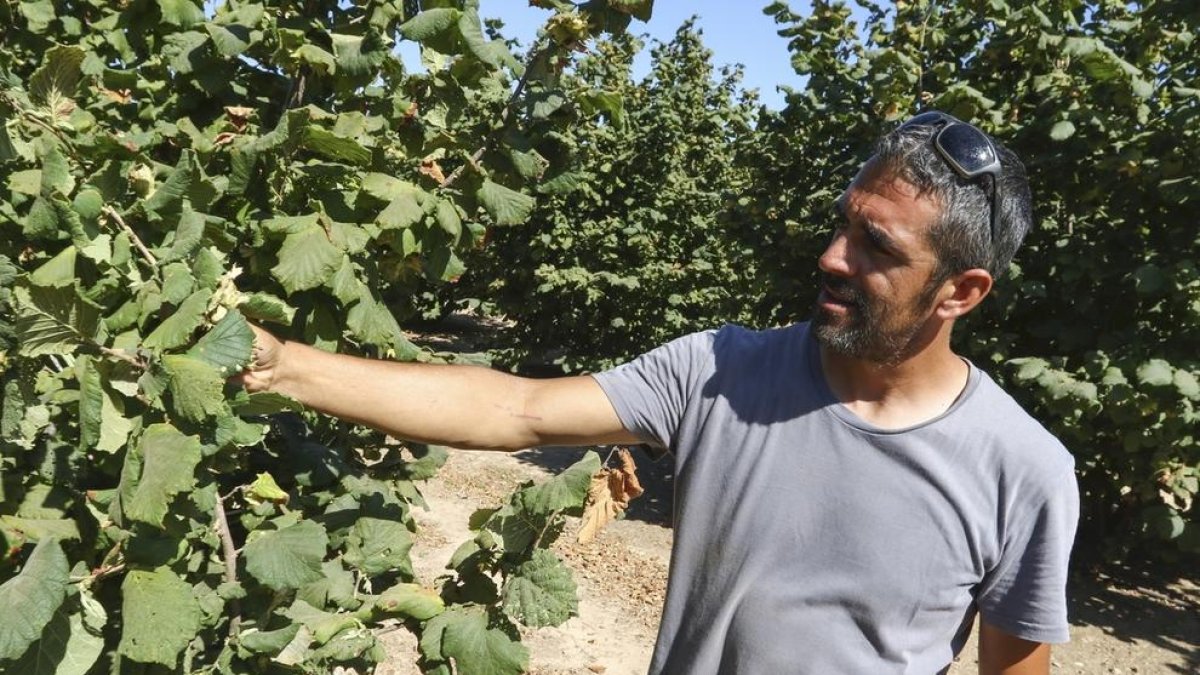
<svg viewBox="0 0 1200 675">
<path fill-rule="evenodd" d="M 812 316 L 817 339 L 836 353 L 893 364 L 928 334 L 937 286 L 929 228 L 931 197 L 868 162 L 836 203 L 838 223 L 817 261 L 821 293 Z"/>
</svg>

